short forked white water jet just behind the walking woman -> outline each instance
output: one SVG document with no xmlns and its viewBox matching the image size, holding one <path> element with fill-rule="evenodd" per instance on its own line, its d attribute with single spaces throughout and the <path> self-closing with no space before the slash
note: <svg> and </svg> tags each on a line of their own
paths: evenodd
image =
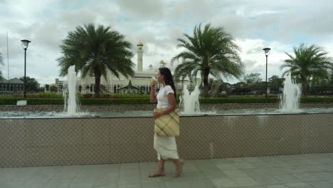
<svg viewBox="0 0 333 188">
<path fill-rule="evenodd" d="M 197 84 L 194 90 L 190 93 L 187 85 L 183 87 L 183 95 L 180 97 L 180 106 L 183 108 L 182 114 L 199 114 L 200 104 L 199 104 L 199 85 Z"/>
</svg>

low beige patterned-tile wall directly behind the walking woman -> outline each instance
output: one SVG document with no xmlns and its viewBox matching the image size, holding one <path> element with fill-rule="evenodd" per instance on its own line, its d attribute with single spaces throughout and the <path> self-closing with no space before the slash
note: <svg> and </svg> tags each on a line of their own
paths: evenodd
<svg viewBox="0 0 333 188">
<path fill-rule="evenodd" d="M 181 117 L 185 160 L 333 152 L 333 115 Z M 0 119 L 0 167 L 157 160 L 152 117 Z"/>
</svg>

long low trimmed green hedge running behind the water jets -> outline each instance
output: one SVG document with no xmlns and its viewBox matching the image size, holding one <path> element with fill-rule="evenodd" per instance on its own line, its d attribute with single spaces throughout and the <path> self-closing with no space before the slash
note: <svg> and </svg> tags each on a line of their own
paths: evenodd
<svg viewBox="0 0 333 188">
<path fill-rule="evenodd" d="M 0 105 L 16 105 L 23 98 L 0 98 Z M 278 98 L 200 98 L 201 104 L 278 103 Z M 28 98 L 28 105 L 63 105 L 62 98 Z M 179 103 L 179 101 L 177 101 Z M 301 103 L 333 103 L 333 98 L 301 98 Z M 149 98 L 81 98 L 81 105 L 148 105 Z"/>
</svg>

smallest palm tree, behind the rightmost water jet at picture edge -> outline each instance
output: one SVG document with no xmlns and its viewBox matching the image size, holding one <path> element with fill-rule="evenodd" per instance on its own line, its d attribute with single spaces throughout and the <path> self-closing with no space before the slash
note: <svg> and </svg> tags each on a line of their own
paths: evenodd
<svg viewBox="0 0 333 188">
<path fill-rule="evenodd" d="M 294 47 L 295 56 L 285 53 L 289 57 L 280 66 L 280 69 L 288 68 L 283 73 L 291 73 L 292 77 L 302 82 L 302 95 L 307 96 L 308 81 L 310 78 L 328 78 L 329 68 L 332 68 L 332 58 L 327 57 L 323 48 L 315 45 L 306 46 L 304 43 Z"/>
</svg>

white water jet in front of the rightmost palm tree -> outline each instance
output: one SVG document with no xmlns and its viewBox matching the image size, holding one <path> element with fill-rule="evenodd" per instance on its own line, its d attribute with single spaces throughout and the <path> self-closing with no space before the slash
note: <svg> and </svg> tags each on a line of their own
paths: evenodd
<svg viewBox="0 0 333 188">
<path fill-rule="evenodd" d="M 298 112 L 300 105 L 300 87 L 292 81 L 290 73 L 285 76 L 283 93 L 280 95 L 280 112 Z"/>
</svg>

